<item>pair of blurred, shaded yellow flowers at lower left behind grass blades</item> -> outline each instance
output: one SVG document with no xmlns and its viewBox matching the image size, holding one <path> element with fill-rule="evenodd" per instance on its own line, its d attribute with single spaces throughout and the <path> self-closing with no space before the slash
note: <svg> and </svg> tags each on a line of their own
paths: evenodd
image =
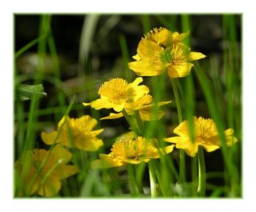
<svg viewBox="0 0 256 212">
<path fill-rule="evenodd" d="M 18 196 L 38 194 L 51 197 L 61 189 L 60 180 L 78 173 L 77 165 L 67 165 L 72 159 L 68 148 L 97 151 L 103 145 L 97 138 L 103 129 L 93 130 L 97 120 L 85 115 L 78 119 L 63 117 L 58 130 L 42 132 L 41 138 L 53 149 L 33 149 L 24 152 L 15 162 Z"/>
</svg>

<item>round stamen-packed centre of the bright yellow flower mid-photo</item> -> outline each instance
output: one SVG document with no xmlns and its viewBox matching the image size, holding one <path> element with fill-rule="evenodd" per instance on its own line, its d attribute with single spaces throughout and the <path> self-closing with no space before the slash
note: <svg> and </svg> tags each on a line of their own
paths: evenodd
<svg viewBox="0 0 256 212">
<path fill-rule="evenodd" d="M 132 101 L 135 95 L 135 90 L 127 87 L 128 83 L 124 79 L 110 79 L 99 88 L 99 95 L 107 97 L 110 103 L 119 105 L 124 101 Z"/>
</svg>

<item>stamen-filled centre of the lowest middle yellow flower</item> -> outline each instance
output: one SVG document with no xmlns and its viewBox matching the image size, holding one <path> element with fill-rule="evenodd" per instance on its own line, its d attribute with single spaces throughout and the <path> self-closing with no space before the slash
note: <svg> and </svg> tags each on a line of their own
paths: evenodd
<svg viewBox="0 0 256 212">
<path fill-rule="evenodd" d="M 116 141 L 111 151 L 113 152 L 113 157 L 121 160 L 139 160 L 141 157 L 145 157 L 146 154 L 150 154 L 153 148 L 150 141 L 146 141 L 145 138 L 138 136 L 135 139 L 120 139 Z"/>
</svg>

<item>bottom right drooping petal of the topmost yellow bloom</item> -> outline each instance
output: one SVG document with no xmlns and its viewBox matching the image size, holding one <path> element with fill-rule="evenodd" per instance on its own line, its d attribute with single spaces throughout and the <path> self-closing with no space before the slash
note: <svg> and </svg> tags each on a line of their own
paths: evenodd
<svg viewBox="0 0 256 212">
<path fill-rule="evenodd" d="M 192 63 L 181 63 L 178 66 L 170 65 L 167 68 L 168 75 L 170 78 L 184 77 L 190 74 L 190 69 L 192 68 Z"/>
</svg>

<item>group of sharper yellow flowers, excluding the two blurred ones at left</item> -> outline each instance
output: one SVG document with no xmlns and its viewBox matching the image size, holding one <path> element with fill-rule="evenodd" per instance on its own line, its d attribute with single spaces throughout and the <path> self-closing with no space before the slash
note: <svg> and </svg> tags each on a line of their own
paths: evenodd
<svg viewBox="0 0 256 212">
<path fill-rule="evenodd" d="M 172 33 L 166 28 L 154 28 L 141 39 L 138 44 L 137 55 L 133 56 L 136 61 L 128 64 L 132 71 L 138 76 L 157 76 L 167 71 L 170 78 L 187 76 L 193 66 L 192 60 L 205 58 L 200 52 L 191 52 L 190 48 L 182 43 L 188 33 Z M 116 119 L 125 114 L 132 115 L 138 111 L 143 121 L 160 119 L 165 113 L 158 110 L 157 115 L 151 113 L 154 104 L 152 97 L 148 95 L 149 89 L 138 77 L 134 82 L 128 84 L 125 79 L 110 79 L 99 88 L 100 98 L 91 103 L 83 103 L 94 109 L 114 109 L 118 114 L 110 113 L 102 119 Z M 157 103 L 162 106 L 171 101 Z M 198 146 L 203 146 L 207 152 L 212 152 L 221 146 L 217 127 L 212 119 L 194 117 L 195 139 L 191 141 L 189 125 L 187 120 L 181 122 L 174 129 L 178 136 L 165 138 L 164 141 L 176 144 L 176 148 L 184 149 L 191 157 L 195 157 Z M 138 123 L 136 123 L 138 125 Z M 138 127 L 139 128 L 139 127 Z M 140 130 L 139 130 L 140 132 Z M 231 146 L 238 140 L 232 136 L 233 130 L 225 130 L 226 145 Z M 124 134 L 116 139 L 110 154 L 100 154 L 100 160 L 92 162 L 92 168 L 110 168 L 128 163 L 138 164 L 142 161 L 148 162 L 151 158 L 159 158 L 161 154 L 173 151 L 173 144 L 163 149 L 158 148 L 156 138 L 143 138 L 135 132 Z"/>
</svg>

